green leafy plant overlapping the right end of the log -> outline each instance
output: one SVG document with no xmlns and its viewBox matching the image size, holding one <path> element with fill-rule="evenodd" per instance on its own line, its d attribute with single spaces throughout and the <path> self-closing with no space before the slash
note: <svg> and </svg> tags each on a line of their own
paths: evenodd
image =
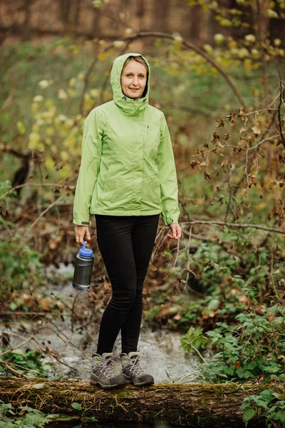
<svg viewBox="0 0 285 428">
<path fill-rule="evenodd" d="M 283 428 L 285 424 L 285 400 L 282 394 L 272 389 L 264 389 L 259 395 L 250 395 L 242 403 L 244 410 L 244 422 L 247 422 L 256 414 L 266 417 L 267 427 Z"/>
</svg>

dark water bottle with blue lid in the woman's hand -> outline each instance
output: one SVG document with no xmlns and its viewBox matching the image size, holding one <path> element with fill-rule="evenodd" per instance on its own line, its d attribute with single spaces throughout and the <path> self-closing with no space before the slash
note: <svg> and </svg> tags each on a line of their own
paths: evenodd
<svg viewBox="0 0 285 428">
<path fill-rule="evenodd" d="M 86 248 L 86 241 L 83 241 L 81 249 L 76 255 L 76 266 L 72 282 L 73 287 L 77 290 L 88 290 L 90 287 L 93 262 L 93 251 Z"/>
</svg>

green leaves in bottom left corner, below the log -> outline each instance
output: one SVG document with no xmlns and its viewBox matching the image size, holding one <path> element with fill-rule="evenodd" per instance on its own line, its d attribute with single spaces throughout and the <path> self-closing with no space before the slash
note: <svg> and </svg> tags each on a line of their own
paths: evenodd
<svg viewBox="0 0 285 428">
<path fill-rule="evenodd" d="M 26 406 L 14 410 L 0 399 L 0 428 L 42 428 L 46 422 L 48 418 L 39 410 Z"/>
</svg>

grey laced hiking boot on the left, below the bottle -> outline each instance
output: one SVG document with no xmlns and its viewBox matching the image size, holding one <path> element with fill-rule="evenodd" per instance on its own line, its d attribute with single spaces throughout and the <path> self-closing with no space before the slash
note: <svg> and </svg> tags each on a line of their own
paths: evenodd
<svg viewBox="0 0 285 428">
<path fill-rule="evenodd" d="M 120 387 L 125 384 L 123 376 L 113 370 L 115 358 L 117 357 L 113 355 L 112 352 L 104 352 L 102 357 L 99 354 L 92 355 L 90 384 L 98 384 L 103 389 Z"/>
</svg>

